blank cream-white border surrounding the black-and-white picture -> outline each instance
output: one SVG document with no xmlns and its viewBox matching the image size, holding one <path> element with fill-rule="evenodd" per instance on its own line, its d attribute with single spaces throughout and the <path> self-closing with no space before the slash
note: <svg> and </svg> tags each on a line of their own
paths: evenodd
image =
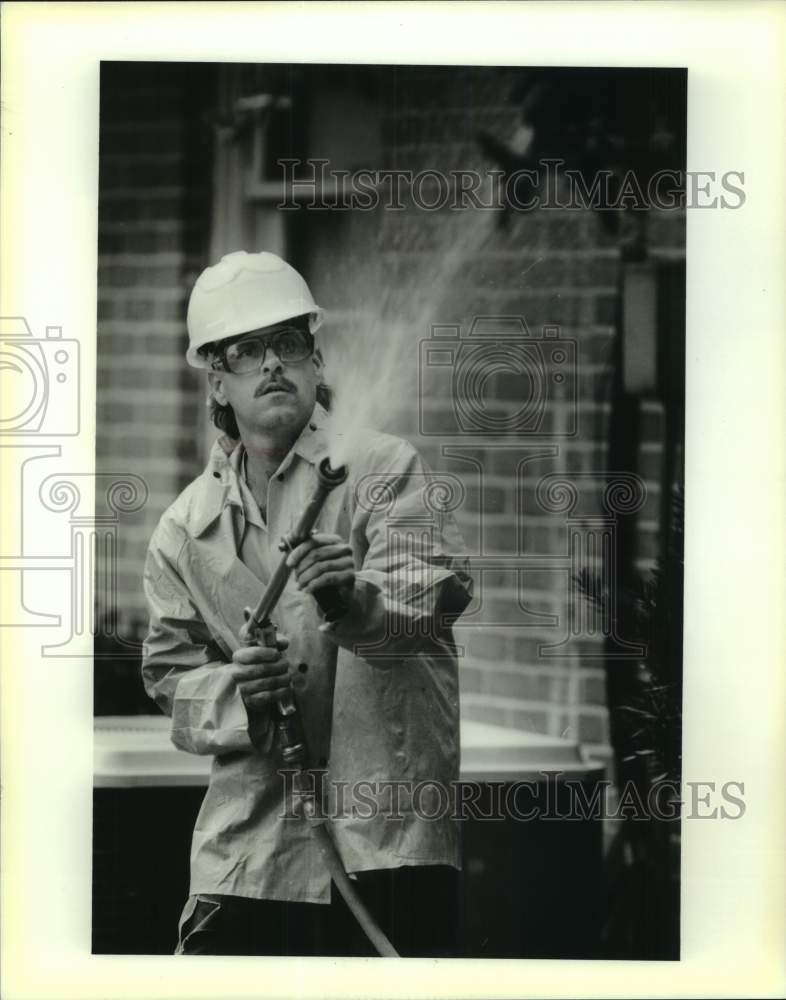
<svg viewBox="0 0 786 1000">
<path fill-rule="evenodd" d="M 6 3 L 2 21 L 0 303 L 79 340 L 75 469 L 94 464 L 100 60 L 686 66 L 688 168 L 742 170 L 746 191 L 688 212 L 684 777 L 743 781 L 747 808 L 683 824 L 682 959 L 92 956 L 91 651 L 47 661 L 6 629 L 4 997 L 782 995 L 786 7 Z"/>
</svg>

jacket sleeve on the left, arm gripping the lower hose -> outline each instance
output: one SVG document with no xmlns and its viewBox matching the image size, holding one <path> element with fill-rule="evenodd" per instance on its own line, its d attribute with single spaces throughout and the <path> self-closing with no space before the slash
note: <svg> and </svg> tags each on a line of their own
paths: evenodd
<svg viewBox="0 0 786 1000">
<path fill-rule="evenodd" d="M 167 554 L 170 546 L 162 544 L 167 534 L 159 526 L 145 563 L 150 610 L 142 654 L 145 690 L 171 716 L 172 742 L 180 750 L 216 755 L 251 751 L 243 699 L 177 572 L 176 559 Z M 261 738 L 255 734 L 255 739 L 260 746 Z"/>
</svg>

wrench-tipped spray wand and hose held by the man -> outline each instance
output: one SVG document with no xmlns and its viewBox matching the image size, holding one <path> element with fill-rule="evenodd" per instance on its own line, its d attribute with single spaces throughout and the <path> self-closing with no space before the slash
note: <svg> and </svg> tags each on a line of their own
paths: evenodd
<svg viewBox="0 0 786 1000">
<path fill-rule="evenodd" d="M 276 626 L 271 614 L 279 598 L 284 592 L 287 580 L 292 572 L 287 565 L 287 557 L 295 546 L 306 541 L 311 535 L 319 513 L 331 490 L 347 478 L 346 466 L 333 469 L 327 458 L 324 458 L 317 469 L 317 486 L 311 499 L 306 504 L 295 528 L 286 535 L 280 544 L 284 555 L 276 567 L 270 583 L 255 608 L 245 609 L 246 621 L 241 630 L 241 641 L 246 646 L 276 646 Z M 327 593 L 325 592 L 327 591 Z M 331 600 L 329 588 L 325 588 L 317 598 L 326 617 L 336 610 Z M 287 768 L 293 772 L 292 789 L 295 802 L 300 804 L 302 815 L 314 836 L 325 867 L 330 877 L 341 893 L 357 922 L 362 927 L 366 937 L 376 948 L 378 954 L 386 957 L 398 957 L 398 952 L 366 909 L 349 880 L 341 855 L 327 828 L 327 823 L 317 808 L 316 782 L 309 775 L 309 755 L 303 722 L 298 711 L 295 692 L 290 691 L 278 699 L 275 706 L 276 736 L 281 756 Z"/>
</svg>

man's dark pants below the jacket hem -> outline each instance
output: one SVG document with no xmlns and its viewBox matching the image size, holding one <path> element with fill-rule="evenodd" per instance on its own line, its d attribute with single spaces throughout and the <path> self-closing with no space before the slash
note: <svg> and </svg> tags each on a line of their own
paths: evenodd
<svg viewBox="0 0 786 1000">
<path fill-rule="evenodd" d="M 457 949 L 458 879 L 455 868 L 413 866 L 360 872 L 355 888 L 400 955 L 449 958 Z M 327 906 L 200 894 L 183 913 L 180 955 L 376 954 L 335 886 Z"/>
</svg>

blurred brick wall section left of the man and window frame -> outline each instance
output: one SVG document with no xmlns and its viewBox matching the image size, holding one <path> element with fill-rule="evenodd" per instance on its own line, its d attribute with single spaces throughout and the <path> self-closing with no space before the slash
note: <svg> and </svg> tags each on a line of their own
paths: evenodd
<svg viewBox="0 0 786 1000">
<path fill-rule="evenodd" d="M 183 353 L 209 236 L 212 79 L 199 64 L 102 67 L 96 467 L 149 489 L 119 527 L 121 631 L 145 618 L 147 542 L 197 471 L 203 392 Z"/>
</svg>

